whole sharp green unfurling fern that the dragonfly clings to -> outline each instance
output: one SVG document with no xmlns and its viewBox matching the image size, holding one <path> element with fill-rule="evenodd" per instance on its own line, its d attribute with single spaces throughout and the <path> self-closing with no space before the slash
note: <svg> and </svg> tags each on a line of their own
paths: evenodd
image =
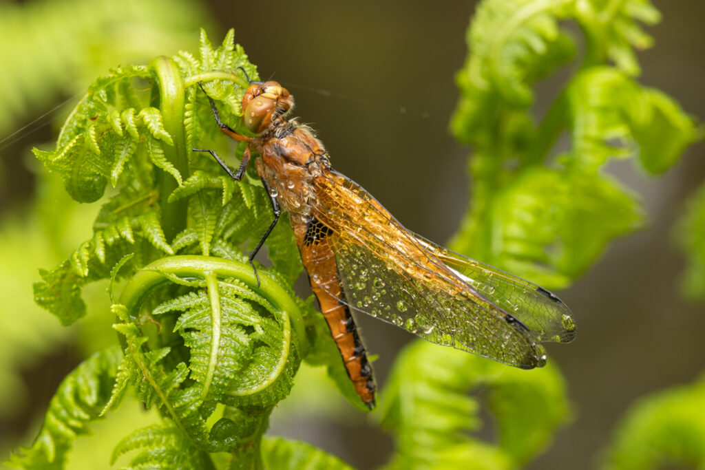
<svg viewBox="0 0 705 470">
<path fill-rule="evenodd" d="M 113 351 L 110 367 L 94 370 L 103 364 L 99 359 L 80 366 L 65 387 L 80 382 L 88 368 L 95 376 L 85 380 L 100 380 L 100 400 L 82 387 L 89 395 L 72 398 L 76 410 L 50 410 L 39 440 L 15 464 L 62 468 L 71 440 L 133 390 L 165 421 L 118 445 L 115 456 L 142 449 L 131 466 L 209 468 L 215 452 L 229 452 L 243 468 L 262 465 L 269 413 L 288 395 L 320 320 L 309 315 L 312 302 L 283 287 L 302 269 L 288 223 L 268 238 L 272 267 L 259 267 L 259 280 L 247 262 L 247 242 L 272 218 L 259 180 L 247 175 L 235 184 L 210 156 L 192 151 L 228 153 L 226 141 L 214 138 L 219 130 L 197 84 L 234 122 L 249 86 L 238 68 L 257 78 L 233 32 L 218 48 L 203 33 L 199 58 L 159 57 L 99 78 L 63 126 L 56 149 L 35 150 L 78 201 L 97 201 L 108 184 L 114 188 L 92 237 L 42 271 L 35 298 L 70 324 L 86 314 L 83 285 L 126 278 L 112 307 L 123 359 L 118 366 Z M 235 149 L 235 156 L 242 151 Z M 316 341 L 326 338 L 332 345 L 326 336 Z M 314 361 L 344 371 L 334 346 Z M 80 400 L 92 411 L 81 412 Z M 319 458 L 292 445 L 281 443 L 288 452 Z"/>
</svg>

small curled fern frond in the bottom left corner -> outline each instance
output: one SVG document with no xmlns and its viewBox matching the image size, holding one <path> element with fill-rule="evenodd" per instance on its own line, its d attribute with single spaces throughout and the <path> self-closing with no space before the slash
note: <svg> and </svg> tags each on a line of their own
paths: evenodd
<svg viewBox="0 0 705 470">
<path fill-rule="evenodd" d="M 75 438 L 89 431 L 108 402 L 122 353 L 118 347 L 93 354 L 59 385 L 32 447 L 13 454 L 24 469 L 63 469 Z"/>
</svg>

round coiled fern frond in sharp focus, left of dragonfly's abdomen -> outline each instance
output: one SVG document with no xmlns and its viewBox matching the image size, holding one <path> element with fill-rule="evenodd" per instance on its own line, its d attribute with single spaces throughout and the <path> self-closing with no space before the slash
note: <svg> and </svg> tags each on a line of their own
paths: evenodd
<svg viewBox="0 0 705 470">
<path fill-rule="evenodd" d="M 262 426 L 271 407 L 288 395 L 304 339 L 297 326 L 301 320 L 295 320 L 297 307 L 286 297 L 290 294 L 277 286 L 280 293 L 275 297 L 265 295 L 274 295 L 270 273 L 260 271 L 262 290 L 255 292 L 226 276 L 228 272 L 246 273 L 248 282 L 255 283 L 246 261 L 233 264 L 204 256 L 160 260 L 138 271 L 123 291 L 125 306 L 114 306 L 123 320 L 115 328 L 127 345 L 114 402 L 130 385 L 140 400 L 157 406 L 208 452 L 234 452 L 232 447 L 240 441 L 244 446 L 259 440 L 261 434 L 253 435 L 252 429 Z M 181 276 L 188 282 L 181 283 Z M 203 282 L 195 283 L 194 278 Z M 164 279 L 175 283 L 167 287 L 171 295 L 145 309 L 142 302 L 153 289 L 166 287 Z M 279 302 L 284 303 L 276 307 Z M 150 329 L 154 334 L 147 345 L 145 333 Z M 233 412 L 209 426 L 219 402 L 247 411 Z M 243 452 L 252 452 L 251 446 L 245 447 Z"/>
</svg>

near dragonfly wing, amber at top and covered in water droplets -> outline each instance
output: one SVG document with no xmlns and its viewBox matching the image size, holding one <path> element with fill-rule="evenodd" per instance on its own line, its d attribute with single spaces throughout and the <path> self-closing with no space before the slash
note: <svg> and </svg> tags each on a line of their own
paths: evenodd
<svg viewBox="0 0 705 470">
<path fill-rule="evenodd" d="M 338 279 L 314 279 L 352 309 L 406 328 L 439 345 L 531 369 L 545 364 L 538 336 L 443 264 L 369 193 L 338 173 L 315 182 L 314 217 Z"/>
</svg>

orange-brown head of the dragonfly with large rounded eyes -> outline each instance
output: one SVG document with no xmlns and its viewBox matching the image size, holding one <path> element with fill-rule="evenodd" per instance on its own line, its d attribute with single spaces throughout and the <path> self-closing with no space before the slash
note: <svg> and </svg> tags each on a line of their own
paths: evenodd
<svg viewBox="0 0 705 470">
<path fill-rule="evenodd" d="M 274 80 L 252 85 L 243 97 L 243 121 L 250 132 L 261 134 L 274 116 L 283 116 L 294 106 L 288 89 Z"/>
</svg>

